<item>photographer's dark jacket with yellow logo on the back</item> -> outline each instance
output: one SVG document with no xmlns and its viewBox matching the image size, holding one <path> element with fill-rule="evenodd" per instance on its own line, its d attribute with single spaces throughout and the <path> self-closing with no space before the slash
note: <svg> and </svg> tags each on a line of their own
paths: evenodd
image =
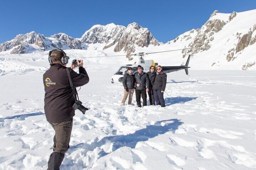
<svg viewBox="0 0 256 170">
<path fill-rule="evenodd" d="M 65 66 L 51 64 L 49 70 L 43 75 L 44 81 L 44 112 L 48 122 L 58 123 L 71 119 L 75 115 L 72 108 L 75 103 L 73 91 L 68 81 Z M 87 72 L 79 67 L 79 74 L 69 69 L 74 87 L 89 82 Z"/>
</svg>

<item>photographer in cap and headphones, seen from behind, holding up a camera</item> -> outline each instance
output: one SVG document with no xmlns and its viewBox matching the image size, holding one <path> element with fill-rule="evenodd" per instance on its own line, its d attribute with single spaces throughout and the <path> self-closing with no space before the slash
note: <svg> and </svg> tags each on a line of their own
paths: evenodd
<svg viewBox="0 0 256 170">
<path fill-rule="evenodd" d="M 73 116 L 75 110 L 72 108 L 75 103 L 74 93 L 70 86 L 66 65 L 69 57 L 61 49 L 50 51 L 50 68 L 43 75 L 44 80 L 44 112 L 47 121 L 55 131 L 53 153 L 48 161 L 48 169 L 59 169 L 64 153 L 69 149 Z M 74 68 L 79 67 L 79 74 Z M 83 67 L 83 60 L 77 60 L 77 66 L 69 68 L 74 88 L 85 85 L 89 82 L 87 72 Z"/>
</svg>

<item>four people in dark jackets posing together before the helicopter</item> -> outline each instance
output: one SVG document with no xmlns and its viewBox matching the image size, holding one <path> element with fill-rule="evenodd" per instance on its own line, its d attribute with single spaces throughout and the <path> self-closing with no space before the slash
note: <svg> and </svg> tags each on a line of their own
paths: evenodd
<svg viewBox="0 0 256 170">
<path fill-rule="evenodd" d="M 148 73 L 143 72 L 140 65 L 137 66 L 138 72 L 133 74 L 133 69 L 128 68 L 127 73 L 123 76 L 124 96 L 121 105 L 124 105 L 127 97 L 128 104 L 132 104 L 132 97 L 135 90 L 136 102 L 141 107 L 140 98 L 143 100 L 143 106 L 147 105 L 147 94 L 149 95 L 150 105 L 161 105 L 165 107 L 163 93 L 166 87 L 167 75 L 162 70 L 162 66 L 150 66 Z"/>
</svg>

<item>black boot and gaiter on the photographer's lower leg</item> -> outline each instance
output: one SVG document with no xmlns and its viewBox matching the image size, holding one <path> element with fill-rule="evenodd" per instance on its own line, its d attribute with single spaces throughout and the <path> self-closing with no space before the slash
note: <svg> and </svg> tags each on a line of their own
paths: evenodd
<svg viewBox="0 0 256 170">
<path fill-rule="evenodd" d="M 64 159 L 63 153 L 57 153 L 57 152 L 51 153 L 48 161 L 47 170 L 59 170 L 63 159 Z"/>
</svg>

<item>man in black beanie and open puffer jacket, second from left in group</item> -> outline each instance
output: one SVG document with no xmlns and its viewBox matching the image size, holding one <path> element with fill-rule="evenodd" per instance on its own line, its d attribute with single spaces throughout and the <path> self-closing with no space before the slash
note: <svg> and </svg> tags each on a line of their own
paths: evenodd
<svg viewBox="0 0 256 170">
<path fill-rule="evenodd" d="M 149 91 L 149 76 L 147 73 L 142 71 L 141 65 L 137 67 L 138 72 L 134 74 L 135 77 L 135 93 L 136 93 L 136 102 L 138 107 L 141 107 L 140 97 L 143 99 L 143 106 L 147 105 L 147 94 Z"/>
</svg>

